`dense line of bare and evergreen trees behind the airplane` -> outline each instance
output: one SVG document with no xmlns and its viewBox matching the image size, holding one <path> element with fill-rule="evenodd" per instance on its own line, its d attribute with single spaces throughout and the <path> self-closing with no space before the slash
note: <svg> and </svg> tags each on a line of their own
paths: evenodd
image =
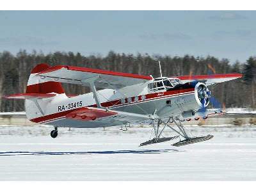
<svg viewBox="0 0 256 192">
<path fill-rule="evenodd" d="M 72 65 L 78 67 L 99 68 L 117 72 L 128 72 L 159 77 L 161 61 L 163 76 L 182 76 L 199 74 L 241 73 L 243 78 L 211 86 L 212 95 L 226 108 L 256 108 L 256 57 L 250 57 L 245 63 L 230 63 L 227 59 L 214 56 L 195 57 L 161 56 L 149 54 L 125 54 L 109 51 L 108 55 L 83 56 L 79 52 L 43 52 L 19 51 L 16 55 L 8 51 L 0 52 L 0 97 L 12 93 L 25 93 L 29 74 L 38 63 L 49 65 Z M 89 92 L 89 88 L 74 84 L 63 84 L 68 94 Z M 0 99 L 1 111 L 24 111 L 24 100 Z"/>
</svg>

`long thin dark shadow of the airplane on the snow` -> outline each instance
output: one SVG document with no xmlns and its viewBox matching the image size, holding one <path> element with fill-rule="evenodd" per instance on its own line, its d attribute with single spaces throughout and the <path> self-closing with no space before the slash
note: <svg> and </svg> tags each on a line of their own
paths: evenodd
<svg viewBox="0 0 256 192">
<path fill-rule="evenodd" d="M 162 150 L 105 150 L 105 151 L 82 151 L 82 152 L 31 152 L 31 151 L 12 151 L 0 152 L 0 156 L 63 156 L 63 155 L 90 155 L 90 154 L 162 154 L 168 152 L 183 152 L 184 150 L 177 149 L 162 149 Z"/>
</svg>

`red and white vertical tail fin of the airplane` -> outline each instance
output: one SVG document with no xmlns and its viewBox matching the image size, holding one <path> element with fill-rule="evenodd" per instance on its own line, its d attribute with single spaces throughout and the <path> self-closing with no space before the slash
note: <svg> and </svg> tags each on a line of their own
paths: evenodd
<svg viewBox="0 0 256 192">
<path fill-rule="evenodd" d="M 54 81 L 44 81 L 41 77 L 36 76 L 39 72 L 51 67 L 47 63 L 41 63 L 36 65 L 31 71 L 28 79 L 26 93 L 65 93 L 61 83 Z"/>
</svg>

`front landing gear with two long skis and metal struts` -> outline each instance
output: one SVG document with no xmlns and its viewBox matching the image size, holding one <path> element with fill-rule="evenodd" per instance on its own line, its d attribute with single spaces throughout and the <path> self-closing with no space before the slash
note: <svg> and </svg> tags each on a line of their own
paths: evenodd
<svg viewBox="0 0 256 192">
<path fill-rule="evenodd" d="M 174 122 L 174 124 L 178 127 L 178 129 L 173 128 L 172 126 L 168 125 L 169 122 Z M 159 125 L 161 123 L 164 123 L 164 127 L 161 131 L 159 131 Z M 171 140 L 175 140 L 177 138 L 179 138 L 179 136 L 173 136 L 170 138 L 160 138 L 162 132 L 164 131 L 165 127 L 169 127 L 170 129 L 172 129 L 173 131 L 175 131 L 177 134 L 179 134 L 180 136 L 182 136 L 183 138 L 185 138 L 185 140 L 179 141 L 177 143 L 174 143 L 173 146 L 175 147 L 180 147 L 182 145 L 189 145 L 192 143 L 198 143 L 201 141 L 207 141 L 207 140 L 211 140 L 211 138 L 213 138 L 212 135 L 207 135 L 207 136 L 203 136 L 203 137 L 195 137 L 195 138 L 191 138 L 188 136 L 188 134 L 186 133 L 184 126 L 181 124 L 179 119 L 175 119 L 172 116 L 168 119 L 167 122 L 164 122 L 163 120 L 159 119 L 156 125 L 156 120 L 152 121 L 153 127 L 154 127 L 154 132 L 156 135 L 156 138 L 154 138 L 153 140 L 149 140 L 146 141 L 144 143 L 141 143 L 140 146 L 144 146 L 144 145 L 150 145 L 150 144 L 154 144 L 154 143 L 161 143 L 161 142 L 165 142 L 165 141 L 171 141 Z"/>
</svg>

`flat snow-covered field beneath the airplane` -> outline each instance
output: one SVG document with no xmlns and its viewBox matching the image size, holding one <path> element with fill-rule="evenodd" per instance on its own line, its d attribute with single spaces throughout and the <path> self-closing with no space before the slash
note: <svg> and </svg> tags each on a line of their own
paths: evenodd
<svg viewBox="0 0 256 192">
<path fill-rule="evenodd" d="M 256 127 L 187 130 L 214 138 L 138 147 L 150 128 L 63 128 L 52 139 L 51 127 L 1 126 L 0 180 L 256 180 Z"/>
</svg>

